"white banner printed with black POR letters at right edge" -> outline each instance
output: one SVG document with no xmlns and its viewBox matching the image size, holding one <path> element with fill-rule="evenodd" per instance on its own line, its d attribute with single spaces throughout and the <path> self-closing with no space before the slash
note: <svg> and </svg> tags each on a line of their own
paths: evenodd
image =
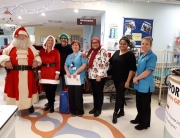
<svg viewBox="0 0 180 138">
<path fill-rule="evenodd" d="M 180 76 L 169 76 L 164 138 L 180 138 Z"/>
</svg>

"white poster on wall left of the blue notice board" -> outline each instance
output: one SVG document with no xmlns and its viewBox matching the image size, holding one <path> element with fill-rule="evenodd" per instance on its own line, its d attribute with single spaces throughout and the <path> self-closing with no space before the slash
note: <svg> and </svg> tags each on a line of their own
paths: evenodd
<svg viewBox="0 0 180 138">
<path fill-rule="evenodd" d="M 119 49 L 118 44 L 118 24 L 109 24 L 108 30 L 108 51 L 116 51 Z"/>
</svg>

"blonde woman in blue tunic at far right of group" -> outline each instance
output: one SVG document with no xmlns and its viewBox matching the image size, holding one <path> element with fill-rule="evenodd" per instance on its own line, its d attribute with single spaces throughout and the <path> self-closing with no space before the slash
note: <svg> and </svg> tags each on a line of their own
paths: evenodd
<svg viewBox="0 0 180 138">
<path fill-rule="evenodd" d="M 150 127 L 151 120 L 151 95 L 155 90 L 153 72 L 156 67 L 157 56 L 152 52 L 151 37 L 141 41 L 143 55 L 138 60 L 137 73 L 133 79 L 136 89 L 137 116 L 130 122 L 138 124 L 135 129 L 142 130 Z"/>
</svg>

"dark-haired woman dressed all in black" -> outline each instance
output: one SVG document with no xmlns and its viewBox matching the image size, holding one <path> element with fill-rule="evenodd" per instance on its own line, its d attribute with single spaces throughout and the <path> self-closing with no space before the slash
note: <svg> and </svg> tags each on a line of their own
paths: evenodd
<svg viewBox="0 0 180 138">
<path fill-rule="evenodd" d="M 130 40 L 122 37 L 119 40 L 119 49 L 110 58 L 112 79 L 116 88 L 116 103 L 112 122 L 117 123 L 117 118 L 124 116 L 125 91 L 129 88 L 130 81 L 136 71 L 136 58 L 133 52 L 128 50 Z"/>
</svg>

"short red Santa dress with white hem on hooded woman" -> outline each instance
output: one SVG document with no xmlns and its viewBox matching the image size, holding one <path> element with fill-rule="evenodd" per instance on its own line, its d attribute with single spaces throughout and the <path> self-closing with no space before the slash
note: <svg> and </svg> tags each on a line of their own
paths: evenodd
<svg viewBox="0 0 180 138">
<path fill-rule="evenodd" d="M 60 74 L 60 54 L 56 49 L 51 50 L 49 53 L 44 48 L 39 53 L 43 64 L 56 64 L 56 66 L 41 66 L 41 79 L 39 83 L 42 84 L 59 84 L 59 80 L 55 80 L 55 75 Z"/>
</svg>

